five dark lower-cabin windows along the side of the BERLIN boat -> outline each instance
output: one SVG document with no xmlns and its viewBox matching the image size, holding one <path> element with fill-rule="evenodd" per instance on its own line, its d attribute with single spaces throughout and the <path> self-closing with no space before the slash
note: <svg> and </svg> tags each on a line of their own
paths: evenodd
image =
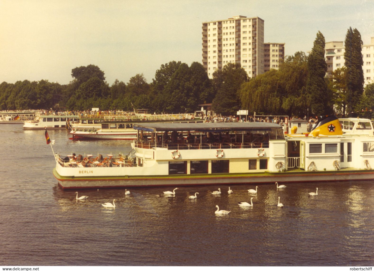
<svg viewBox="0 0 374 271">
<path fill-rule="evenodd" d="M 260 160 L 260 169 L 267 169 L 267 159 Z M 191 174 L 206 174 L 209 172 L 208 160 L 191 161 Z M 257 169 L 257 159 L 248 160 L 248 169 Z M 212 160 L 212 173 L 229 173 L 230 160 Z M 187 174 L 187 161 L 169 161 L 169 175 Z"/>
</svg>

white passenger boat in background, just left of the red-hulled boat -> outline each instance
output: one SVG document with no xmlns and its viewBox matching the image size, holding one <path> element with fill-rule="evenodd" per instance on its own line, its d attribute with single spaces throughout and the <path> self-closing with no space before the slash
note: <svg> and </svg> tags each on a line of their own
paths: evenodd
<svg viewBox="0 0 374 271">
<path fill-rule="evenodd" d="M 25 130 L 66 129 L 67 120 L 77 118 L 69 113 L 43 113 L 39 112 L 33 120 L 24 121 Z"/>
</svg>

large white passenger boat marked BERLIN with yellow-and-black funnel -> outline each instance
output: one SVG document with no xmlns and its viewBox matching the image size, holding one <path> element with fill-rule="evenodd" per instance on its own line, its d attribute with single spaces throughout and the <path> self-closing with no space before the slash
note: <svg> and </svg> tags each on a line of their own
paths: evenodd
<svg viewBox="0 0 374 271">
<path fill-rule="evenodd" d="M 352 134 L 329 116 L 286 136 L 275 123 L 137 123 L 129 154 L 55 154 L 53 174 L 63 189 L 372 181 L 373 124 L 352 122 Z M 371 135 L 354 133 L 362 122 Z"/>
</svg>

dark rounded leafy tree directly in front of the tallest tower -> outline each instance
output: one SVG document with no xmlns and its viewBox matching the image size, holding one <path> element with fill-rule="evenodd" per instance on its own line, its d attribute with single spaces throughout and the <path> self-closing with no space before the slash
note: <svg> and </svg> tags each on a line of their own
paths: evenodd
<svg viewBox="0 0 374 271">
<path fill-rule="evenodd" d="M 224 116 L 234 115 L 240 108 L 240 85 L 248 81 L 247 73 L 240 64 L 228 63 L 222 70 L 213 73 L 213 88 L 217 93 L 213 99 L 213 110 Z"/>
</svg>

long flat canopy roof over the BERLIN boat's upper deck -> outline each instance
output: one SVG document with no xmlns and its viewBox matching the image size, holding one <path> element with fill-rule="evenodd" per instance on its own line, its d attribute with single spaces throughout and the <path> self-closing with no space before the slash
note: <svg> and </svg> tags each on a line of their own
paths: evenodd
<svg viewBox="0 0 374 271">
<path fill-rule="evenodd" d="M 267 122 L 209 122 L 209 123 L 134 123 L 133 128 L 148 132 L 154 131 L 245 131 L 245 130 L 271 130 L 281 128 L 279 124 Z"/>
</svg>

